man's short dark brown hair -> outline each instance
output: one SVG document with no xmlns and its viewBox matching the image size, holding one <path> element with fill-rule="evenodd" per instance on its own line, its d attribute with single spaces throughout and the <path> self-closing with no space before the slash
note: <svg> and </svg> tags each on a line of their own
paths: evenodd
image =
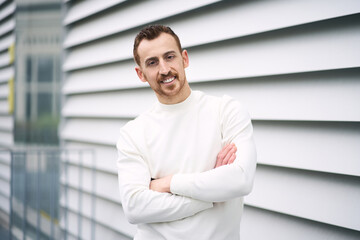
<svg viewBox="0 0 360 240">
<path fill-rule="evenodd" d="M 140 66 L 140 57 L 137 52 L 137 49 L 141 43 L 142 40 L 153 40 L 157 38 L 161 33 L 167 33 L 174 37 L 176 44 L 179 47 L 179 50 L 181 52 L 181 43 L 179 37 L 174 33 L 173 30 L 171 30 L 170 27 L 164 26 L 164 25 L 150 25 L 145 28 L 143 28 L 135 37 L 134 40 L 134 49 L 133 49 L 133 55 L 135 62 Z"/>
</svg>

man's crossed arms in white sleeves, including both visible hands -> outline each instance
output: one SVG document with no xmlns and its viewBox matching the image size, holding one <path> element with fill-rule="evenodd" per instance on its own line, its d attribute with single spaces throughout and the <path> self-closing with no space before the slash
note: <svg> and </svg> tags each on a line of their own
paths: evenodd
<svg viewBox="0 0 360 240">
<path fill-rule="evenodd" d="M 214 169 L 175 174 L 151 181 L 141 155 L 142 137 L 122 130 L 117 144 L 119 188 L 125 216 L 130 223 L 169 222 L 195 215 L 247 195 L 252 188 L 256 151 L 250 117 L 235 101 L 226 102 L 222 122 L 223 142 Z M 136 133 L 135 133 L 136 135 Z M 235 155 L 236 153 L 236 155 Z"/>
</svg>

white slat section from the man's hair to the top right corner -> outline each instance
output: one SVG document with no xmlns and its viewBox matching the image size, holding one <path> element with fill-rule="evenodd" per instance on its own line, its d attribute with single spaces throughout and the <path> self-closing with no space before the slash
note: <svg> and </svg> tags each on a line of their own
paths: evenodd
<svg viewBox="0 0 360 240">
<path fill-rule="evenodd" d="M 232 1 L 202 14 L 170 19 L 167 24 L 184 46 L 195 46 L 358 12 L 357 0 Z"/>
</svg>

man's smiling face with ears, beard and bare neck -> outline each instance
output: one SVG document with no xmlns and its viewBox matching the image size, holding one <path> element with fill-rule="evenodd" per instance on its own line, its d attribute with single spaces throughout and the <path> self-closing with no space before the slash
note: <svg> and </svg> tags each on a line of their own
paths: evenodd
<svg viewBox="0 0 360 240">
<path fill-rule="evenodd" d="M 190 94 L 185 68 L 189 65 L 186 50 L 180 52 L 175 39 L 161 33 L 153 40 L 142 40 L 138 47 L 140 66 L 135 70 L 143 82 L 148 82 L 159 101 L 174 104 Z"/>
</svg>

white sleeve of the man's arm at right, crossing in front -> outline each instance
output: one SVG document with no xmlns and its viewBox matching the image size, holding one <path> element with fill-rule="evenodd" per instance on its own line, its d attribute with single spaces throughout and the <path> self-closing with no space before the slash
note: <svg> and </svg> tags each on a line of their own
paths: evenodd
<svg viewBox="0 0 360 240">
<path fill-rule="evenodd" d="M 220 110 L 223 145 L 235 143 L 236 160 L 201 173 L 175 174 L 171 192 L 208 202 L 223 202 L 250 193 L 256 169 L 253 128 L 247 111 L 224 97 Z"/>
</svg>

